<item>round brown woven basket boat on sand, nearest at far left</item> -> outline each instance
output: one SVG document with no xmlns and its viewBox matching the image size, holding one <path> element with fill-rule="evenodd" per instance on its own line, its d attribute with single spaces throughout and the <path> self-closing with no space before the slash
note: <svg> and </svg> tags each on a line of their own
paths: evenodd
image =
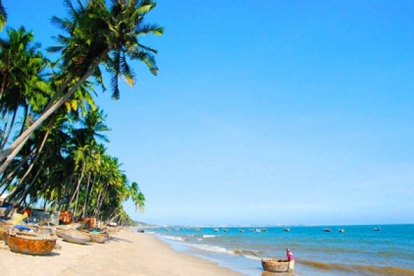
<svg viewBox="0 0 414 276">
<path fill-rule="evenodd" d="M 17 233 L 9 230 L 6 241 L 14 253 L 26 255 L 49 255 L 55 248 L 57 237 L 55 235 L 39 235 L 36 233 Z"/>
</svg>

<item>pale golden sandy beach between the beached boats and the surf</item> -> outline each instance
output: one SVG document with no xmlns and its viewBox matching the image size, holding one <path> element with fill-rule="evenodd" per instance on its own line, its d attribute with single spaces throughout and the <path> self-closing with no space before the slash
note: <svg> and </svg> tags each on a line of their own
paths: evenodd
<svg viewBox="0 0 414 276">
<path fill-rule="evenodd" d="M 48 256 L 12 253 L 0 242 L 0 267 L 4 275 L 139 275 L 139 276 L 240 276 L 213 262 L 179 253 L 146 233 L 121 230 L 105 244 L 57 244 Z"/>
</svg>

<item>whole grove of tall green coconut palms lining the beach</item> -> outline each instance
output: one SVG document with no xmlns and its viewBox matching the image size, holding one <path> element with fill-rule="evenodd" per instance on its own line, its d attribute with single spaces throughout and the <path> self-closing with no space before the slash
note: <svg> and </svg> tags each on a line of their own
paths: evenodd
<svg viewBox="0 0 414 276">
<path fill-rule="evenodd" d="M 164 28 L 145 23 L 152 0 L 63 0 L 68 17 L 52 17 L 62 34 L 46 49 L 24 27 L 6 25 L 0 0 L 0 195 L 19 206 L 41 204 L 81 217 L 128 222 L 123 202 L 144 210 L 145 197 L 117 157 L 108 155 L 103 110 L 96 88 L 119 99 L 119 77 L 133 85 L 130 66 L 140 61 L 157 75 L 157 51 L 140 43 Z M 108 2 L 108 3 L 107 3 Z"/>
</svg>

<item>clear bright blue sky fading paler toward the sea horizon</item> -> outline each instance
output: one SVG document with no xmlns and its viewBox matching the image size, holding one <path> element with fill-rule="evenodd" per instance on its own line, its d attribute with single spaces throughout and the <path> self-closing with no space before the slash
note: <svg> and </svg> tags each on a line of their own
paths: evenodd
<svg viewBox="0 0 414 276">
<path fill-rule="evenodd" d="M 46 48 L 59 0 L 3 0 Z M 152 224 L 414 223 L 414 1 L 157 1 L 111 143 Z"/>
</svg>

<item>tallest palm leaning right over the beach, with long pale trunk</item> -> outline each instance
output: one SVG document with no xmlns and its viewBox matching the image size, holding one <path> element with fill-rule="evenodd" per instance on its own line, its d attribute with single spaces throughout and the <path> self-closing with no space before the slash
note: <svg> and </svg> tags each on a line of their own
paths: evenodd
<svg viewBox="0 0 414 276">
<path fill-rule="evenodd" d="M 66 32 L 67 36 L 59 35 L 57 42 L 60 45 L 49 50 L 62 54 L 61 63 L 67 77 L 39 119 L 1 153 L 0 174 L 6 170 L 8 162 L 17 155 L 32 132 L 65 103 L 86 79 L 91 76 L 101 79 L 99 64 L 105 66 L 112 75 L 114 99 L 119 98 L 119 77 L 124 77 L 130 85 L 135 83 L 135 74 L 128 60 L 142 61 L 153 75 L 157 75 L 154 58 L 157 50 L 139 42 L 139 37 L 143 35 L 161 35 L 164 32 L 164 28 L 157 24 L 144 23 L 146 14 L 155 8 L 154 1 L 112 0 L 108 7 L 104 0 L 88 0 L 86 5 L 79 0 L 77 8 L 72 6 L 70 0 L 64 3 L 70 10 L 71 18 L 53 17 L 52 23 Z M 70 86 L 72 81 L 75 81 L 75 85 Z"/>
</svg>

